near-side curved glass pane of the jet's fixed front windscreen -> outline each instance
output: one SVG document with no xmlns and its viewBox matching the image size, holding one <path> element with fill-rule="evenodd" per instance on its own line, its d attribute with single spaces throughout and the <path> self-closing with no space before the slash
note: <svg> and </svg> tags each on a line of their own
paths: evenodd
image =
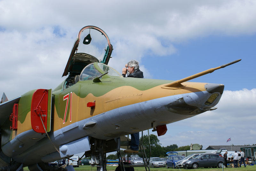
<svg viewBox="0 0 256 171">
<path fill-rule="evenodd" d="M 83 71 L 80 74 L 80 81 L 91 80 L 101 75 L 102 74 L 93 66 L 93 63 L 91 63 L 84 67 Z"/>
</svg>

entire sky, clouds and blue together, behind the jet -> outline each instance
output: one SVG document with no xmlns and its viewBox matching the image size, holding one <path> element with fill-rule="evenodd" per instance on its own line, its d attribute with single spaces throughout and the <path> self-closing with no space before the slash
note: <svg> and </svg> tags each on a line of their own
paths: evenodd
<svg viewBox="0 0 256 171">
<path fill-rule="evenodd" d="M 61 76 L 78 31 L 98 26 L 114 47 L 109 65 L 121 72 L 137 59 L 145 78 L 178 80 L 242 59 L 191 80 L 225 85 L 218 109 L 168 124 L 159 139 L 163 146 L 252 145 L 255 9 L 253 0 L 0 0 L 0 93 L 12 99 L 32 89 L 54 89 L 65 79 Z"/>
</svg>

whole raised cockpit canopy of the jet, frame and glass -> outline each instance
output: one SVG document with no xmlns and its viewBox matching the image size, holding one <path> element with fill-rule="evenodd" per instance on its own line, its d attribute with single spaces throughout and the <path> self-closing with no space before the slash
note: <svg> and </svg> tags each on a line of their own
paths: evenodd
<svg viewBox="0 0 256 171">
<path fill-rule="evenodd" d="M 103 30 L 85 26 L 77 35 L 62 77 L 68 73 L 68 77 L 75 77 L 90 63 L 108 64 L 112 50 L 108 35 Z"/>
</svg>

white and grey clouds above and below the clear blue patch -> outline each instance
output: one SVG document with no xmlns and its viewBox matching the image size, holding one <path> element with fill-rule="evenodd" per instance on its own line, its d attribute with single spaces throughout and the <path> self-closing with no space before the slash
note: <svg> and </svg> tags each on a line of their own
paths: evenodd
<svg viewBox="0 0 256 171">
<path fill-rule="evenodd" d="M 0 93 L 12 99 L 31 89 L 59 85 L 83 26 L 95 25 L 108 34 L 114 47 L 109 65 L 121 72 L 131 59 L 141 62 L 176 53 L 172 43 L 216 34 L 255 34 L 255 9 L 253 0 L 1 0 Z M 154 67 L 161 66 L 141 63 L 145 78 L 151 78 Z M 255 89 L 224 91 L 217 110 L 170 124 L 159 139 L 164 146 L 223 145 L 230 137 L 236 145 L 255 143 L 255 101 Z M 246 138 L 239 138 L 241 134 Z"/>
</svg>

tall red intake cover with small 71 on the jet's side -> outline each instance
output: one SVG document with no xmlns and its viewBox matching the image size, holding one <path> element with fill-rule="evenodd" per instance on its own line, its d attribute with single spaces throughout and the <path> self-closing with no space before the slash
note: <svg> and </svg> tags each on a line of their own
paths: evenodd
<svg viewBox="0 0 256 171">
<path fill-rule="evenodd" d="M 45 133 L 47 130 L 47 111 L 48 111 L 48 90 L 37 89 L 32 96 L 31 102 L 31 125 L 34 131 Z M 42 124 L 41 118 L 44 126 Z"/>
</svg>

